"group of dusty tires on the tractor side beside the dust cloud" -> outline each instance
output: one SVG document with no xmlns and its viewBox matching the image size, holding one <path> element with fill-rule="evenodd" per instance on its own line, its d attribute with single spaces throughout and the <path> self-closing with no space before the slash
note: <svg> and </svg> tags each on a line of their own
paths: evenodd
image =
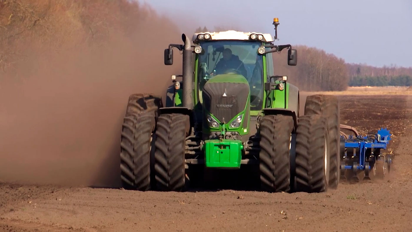
<svg viewBox="0 0 412 232">
<path fill-rule="evenodd" d="M 189 116 L 157 116 L 161 107 L 162 99 L 158 96 L 129 97 L 120 145 L 120 177 L 125 189 L 179 191 L 185 187 L 184 152 Z"/>
</svg>

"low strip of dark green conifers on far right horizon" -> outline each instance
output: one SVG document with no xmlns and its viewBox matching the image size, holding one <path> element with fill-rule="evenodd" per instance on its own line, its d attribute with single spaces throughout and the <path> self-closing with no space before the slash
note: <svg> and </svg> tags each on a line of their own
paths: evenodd
<svg viewBox="0 0 412 232">
<path fill-rule="evenodd" d="M 378 76 L 378 77 L 353 77 L 349 86 L 411 86 L 412 77 L 400 76 Z"/>
</svg>

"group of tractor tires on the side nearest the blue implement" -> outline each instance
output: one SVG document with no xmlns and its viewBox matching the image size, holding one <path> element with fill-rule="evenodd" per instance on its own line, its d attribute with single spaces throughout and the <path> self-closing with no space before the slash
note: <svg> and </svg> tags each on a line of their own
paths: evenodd
<svg viewBox="0 0 412 232">
<path fill-rule="evenodd" d="M 308 96 L 294 131 L 292 116 L 260 123 L 260 181 L 267 192 L 324 192 L 339 182 L 339 105 L 334 96 Z M 296 134 L 292 157 L 292 134 Z M 291 174 L 292 173 L 292 174 Z"/>
</svg>

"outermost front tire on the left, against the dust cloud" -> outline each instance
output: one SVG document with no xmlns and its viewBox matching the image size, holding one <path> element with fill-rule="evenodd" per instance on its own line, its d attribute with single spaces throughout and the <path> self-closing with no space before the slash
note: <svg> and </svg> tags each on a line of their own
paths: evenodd
<svg viewBox="0 0 412 232">
<path fill-rule="evenodd" d="M 150 189 L 150 151 L 155 117 L 152 112 L 124 117 L 120 143 L 120 178 L 129 190 Z"/>
</svg>

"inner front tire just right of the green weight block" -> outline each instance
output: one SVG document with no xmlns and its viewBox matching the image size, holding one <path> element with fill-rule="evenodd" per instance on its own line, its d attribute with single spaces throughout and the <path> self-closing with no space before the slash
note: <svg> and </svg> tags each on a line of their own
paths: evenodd
<svg viewBox="0 0 412 232">
<path fill-rule="evenodd" d="M 267 115 L 260 124 L 260 182 L 267 192 L 290 190 L 290 145 L 293 117 Z"/>
</svg>

